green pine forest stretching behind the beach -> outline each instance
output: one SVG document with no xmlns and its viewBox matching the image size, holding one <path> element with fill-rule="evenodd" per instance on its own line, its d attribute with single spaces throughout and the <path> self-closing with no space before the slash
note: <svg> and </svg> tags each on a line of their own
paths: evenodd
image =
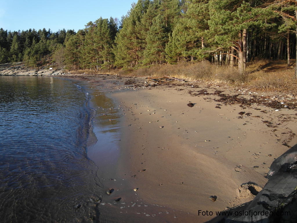
<svg viewBox="0 0 297 223">
<path fill-rule="evenodd" d="M 0 63 L 69 71 L 138 69 L 207 60 L 244 73 L 255 59 L 296 59 L 296 0 L 138 0 L 121 20 L 74 30 L 0 29 Z"/>
</svg>

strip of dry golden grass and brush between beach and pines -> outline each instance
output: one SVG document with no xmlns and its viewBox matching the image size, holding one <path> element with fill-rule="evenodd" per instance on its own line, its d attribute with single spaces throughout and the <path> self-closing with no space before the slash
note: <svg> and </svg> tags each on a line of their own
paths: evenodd
<svg viewBox="0 0 297 223">
<path fill-rule="evenodd" d="M 156 65 L 139 69 L 79 70 L 75 73 L 86 74 L 118 74 L 122 76 L 173 76 L 180 79 L 202 80 L 206 82 L 225 83 L 230 85 L 243 85 L 254 89 L 295 90 L 297 82 L 294 79 L 295 64 L 287 67 L 287 61 L 255 60 L 247 65 L 247 72 L 238 73 L 237 67 L 227 65 L 217 66 L 208 61 L 196 63 L 179 63 L 176 65 Z"/>
</svg>

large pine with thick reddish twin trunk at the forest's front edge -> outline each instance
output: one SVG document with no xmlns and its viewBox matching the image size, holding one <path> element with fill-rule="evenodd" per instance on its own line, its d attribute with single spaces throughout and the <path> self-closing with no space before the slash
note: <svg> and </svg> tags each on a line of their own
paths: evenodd
<svg viewBox="0 0 297 223">
<path fill-rule="evenodd" d="M 247 55 L 247 31 L 251 26 L 260 25 L 260 9 L 251 7 L 248 2 L 230 0 L 210 0 L 208 21 L 210 39 L 213 48 L 228 50 L 230 47 L 237 51 L 238 70 L 245 72 Z M 234 5 L 236 7 L 234 7 Z M 220 52 L 219 52 L 220 53 Z"/>
</svg>

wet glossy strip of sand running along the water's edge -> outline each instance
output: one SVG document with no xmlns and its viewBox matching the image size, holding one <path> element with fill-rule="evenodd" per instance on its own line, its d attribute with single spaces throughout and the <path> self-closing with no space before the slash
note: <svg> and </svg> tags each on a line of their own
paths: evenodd
<svg viewBox="0 0 297 223">
<path fill-rule="evenodd" d="M 121 174 L 118 170 L 118 168 L 121 168 L 119 156 L 122 155 L 120 135 L 122 134 L 121 128 L 125 119 L 124 115 L 120 116 L 119 113 L 125 111 L 125 109 L 117 111 L 117 107 L 121 108 L 121 104 L 113 97 L 110 97 L 108 93 L 102 93 L 102 91 L 91 87 L 92 85 L 88 81 L 79 80 L 76 83 L 89 92 L 92 107 L 97 108 L 97 112 L 92 119 L 92 138 L 96 139 L 97 142 L 88 146 L 88 158 L 98 167 L 96 175 L 100 179 L 99 185 L 103 188 L 103 191 L 114 190 L 110 195 L 105 192 L 102 194 L 103 196 L 98 205 L 100 221 L 151 222 L 151 218 L 154 218 L 154 221 L 157 222 L 172 222 L 174 220 L 178 222 L 176 214 L 180 214 L 180 211 L 173 210 L 166 205 L 162 206 L 147 202 L 138 195 L 138 191 L 133 191 L 135 185 L 133 187 L 128 182 L 129 178 L 126 178 L 126 174 Z M 106 95 L 109 95 L 109 97 Z M 114 202 L 119 197 L 121 197 L 121 200 Z M 141 214 L 144 214 L 145 217 Z"/>
</svg>

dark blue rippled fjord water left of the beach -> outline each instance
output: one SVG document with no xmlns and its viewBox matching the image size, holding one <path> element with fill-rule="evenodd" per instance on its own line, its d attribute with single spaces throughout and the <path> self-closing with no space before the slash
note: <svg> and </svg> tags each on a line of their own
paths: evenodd
<svg viewBox="0 0 297 223">
<path fill-rule="evenodd" d="M 0 76 L 0 221 L 93 222 L 89 96 L 71 81 Z"/>
</svg>

